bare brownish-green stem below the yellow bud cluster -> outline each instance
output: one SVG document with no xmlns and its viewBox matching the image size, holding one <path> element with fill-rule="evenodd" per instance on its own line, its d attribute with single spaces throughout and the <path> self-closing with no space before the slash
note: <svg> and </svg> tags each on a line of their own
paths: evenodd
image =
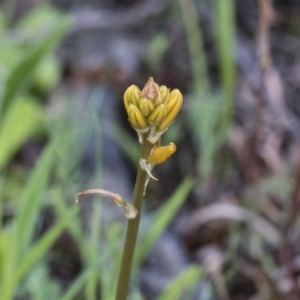
<svg viewBox="0 0 300 300">
<path fill-rule="evenodd" d="M 150 154 L 153 145 L 144 138 L 141 146 L 141 158 L 147 158 Z M 142 200 L 144 196 L 145 183 L 148 178 L 147 173 L 139 166 L 136 182 L 133 190 L 132 204 L 138 210 L 138 214 L 133 220 L 128 220 L 123 257 L 121 262 L 121 269 L 119 273 L 116 300 L 126 300 L 128 293 L 128 286 L 130 281 L 131 265 L 134 255 L 135 244 L 137 240 Z"/>
</svg>

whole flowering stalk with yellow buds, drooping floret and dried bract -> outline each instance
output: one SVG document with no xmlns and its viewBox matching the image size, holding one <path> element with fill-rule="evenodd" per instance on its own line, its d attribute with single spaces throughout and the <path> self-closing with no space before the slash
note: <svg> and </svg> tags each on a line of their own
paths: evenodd
<svg viewBox="0 0 300 300">
<path fill-rule="evenodd" d="M 131 85 L 124 93 L 124 105 L 128 120 L 137 132 L 141 144 L 139 168 L 134 186 L 132 203 L 127 203 L 118 194 L 94 189 L 77 194 L 78 197 L 88 194 L 108 196 L 122 207 L 128 219 L 125 244 L 118 278 L 116 300 L 126 300 L 130 283 L 131 266 L 136 246 L 139 223 L 142 211 L 142 200 L 146 193 L 149 178 L 156 179 L 151 171 L 176 151 L 174 143 L 161 146 L 161 136 L 168 129 L 178 114 L 183 97 L 178 89 L 170 91 L 166 86 L 159 86 L 150 77 L 141 91 Z M 157 180 L 157 179 L 156 179 Z"/>
</svg>

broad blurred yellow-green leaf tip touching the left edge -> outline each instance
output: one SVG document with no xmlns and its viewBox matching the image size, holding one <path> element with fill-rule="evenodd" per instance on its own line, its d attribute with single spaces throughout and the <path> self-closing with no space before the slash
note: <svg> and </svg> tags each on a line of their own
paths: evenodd
<svg viewBox="0 0 300 300">
<path fill-rule="evenodd" d="M 5 113 L 0 123 L 0 171 L 20 146 L 39 130 L 42 118 L 41 108 L 30 98 L 22 98 Z"/>
</svg>

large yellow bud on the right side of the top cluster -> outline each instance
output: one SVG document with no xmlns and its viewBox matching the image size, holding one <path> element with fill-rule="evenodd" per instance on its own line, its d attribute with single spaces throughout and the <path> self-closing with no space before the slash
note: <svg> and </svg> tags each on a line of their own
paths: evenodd
<svg viewBox="0 0 300 300">
<path fill-rule="evenodd" d="M 172 121 L 175 119 L 176 115 L 178 114 L 181 105 L 182 105 L 183 97 L 182 94 L 178 89 L 172 90 L 169 98 L 167 99 L 167 112 L 166 116 L 162 120 L 162 122 L 157 126 L 157 131 L 164 131 L 166 130 Z"/>
</svg>

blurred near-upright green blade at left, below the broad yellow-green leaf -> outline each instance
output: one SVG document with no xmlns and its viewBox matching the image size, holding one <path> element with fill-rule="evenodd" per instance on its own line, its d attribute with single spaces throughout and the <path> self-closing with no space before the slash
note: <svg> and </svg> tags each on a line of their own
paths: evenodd
<svg viewBox="0 0 300 300">
<path fill-rule="evenodd" d="M 50 172 L 53 168 L 53 162 L 53 145 L 50 144 L 43 151 L 21 194 L 22 200 L 19 203 L 19 214 L 15 219 L 14 232 L 14 247 L 19 258 L 27 252 L 27 247 L 32 238 L 42 198 L 47 189 Z"/>
</svg>

